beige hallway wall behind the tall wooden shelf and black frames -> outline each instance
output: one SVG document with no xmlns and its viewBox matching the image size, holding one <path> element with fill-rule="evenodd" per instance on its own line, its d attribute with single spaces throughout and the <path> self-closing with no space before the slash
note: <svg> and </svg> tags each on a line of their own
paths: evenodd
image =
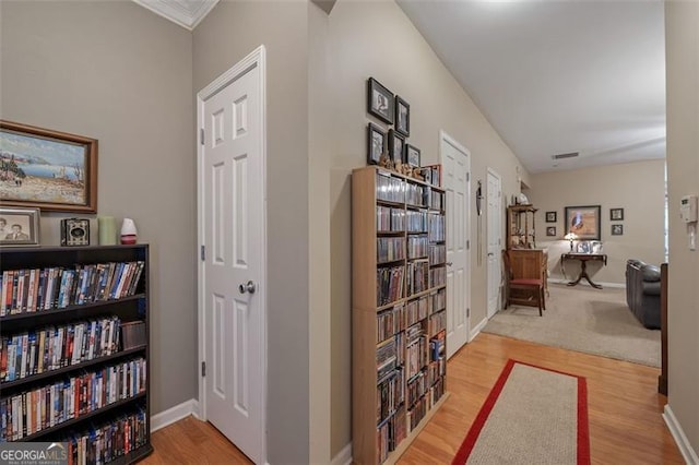
<svg viewBox="0 0 699 465">
<path fill-rule="evenodd" d="M 438 163 L 440 130 L 471 151 L 472 196 L 475 180 L 485 181 L 487 167 L 502 177 L 506 195 L 519 193 L 519 162 L 395 3 L 340 0 L 327 27 L 331 98 L 325 117 L 331 121 L 332 150 L 325 154 L 330 171 L 323 182 L 330 184 L 331 273 L 319 278 L 331 289 L 334 456 L 352 439 L 351 172 L 366 165 L 367 123 L 378 122 L 366 112 L 367 79 L 376 78 L 411 105 L 408 142 L 422 150 L 423 164 Z M 524 170 L 522 177 L 528 177 Z M 475 245 L 475 216 L 470 234 Z M 483 263 L 478 265 L 472 253 L 472 326 L 485 318 L 485 259 Z"/>
</svg>

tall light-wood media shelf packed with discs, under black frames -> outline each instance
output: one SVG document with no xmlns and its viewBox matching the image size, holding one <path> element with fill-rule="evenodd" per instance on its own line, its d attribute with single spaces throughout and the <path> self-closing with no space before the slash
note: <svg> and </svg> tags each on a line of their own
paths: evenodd
<svg viewBox="0 0 699 465">
<path fill-rule="evenodd" d="M 352 176 L 353 458 L 394 463 L 447 398 L 446 193 Z"/>
</svg>

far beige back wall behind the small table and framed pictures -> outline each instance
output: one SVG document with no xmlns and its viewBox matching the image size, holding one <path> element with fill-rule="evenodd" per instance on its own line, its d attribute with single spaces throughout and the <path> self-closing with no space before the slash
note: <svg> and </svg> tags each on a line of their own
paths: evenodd
<svg viewBox="0 0 699 465">
<path fill-rule="evenodd" d="M 560 254 L 570 250 L 570 242 L 562 239 L 566 206 L 602 206 L 601 240 L 607 265 L 588 264 L 594 282 L 625 284 L 628 259 L 656 265 L 665 260 L 665 160 L 543 172 L 531 179 L 532 187 L 524 192 L 538 208 L 536 245 L 548 248 L 552 279 L 564 278 Z M 624 220 L 611 222 L 609 208 L 624 208 Z M 546 223 L 546 212 L 556 212 L 558 220 Z M 624 235 L 612 236 L 612 224 L 624 225 Z M 555 238 L 546 236 L 547 226 L 556 227 Z M 579 263 L 566 262 L 568 279 L 578 276 L 579 270 Z"/>
</svg>

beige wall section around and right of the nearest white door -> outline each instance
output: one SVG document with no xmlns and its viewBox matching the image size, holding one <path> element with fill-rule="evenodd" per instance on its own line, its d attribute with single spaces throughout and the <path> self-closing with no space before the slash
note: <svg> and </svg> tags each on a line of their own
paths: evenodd
<svg viewBox="0 0 699 465">
<path fill-rule="evenodd" d="M 204 88 L 260 45 L 266 48 L 266 458 L 273 464 L 308 463 L 306 2 L 220 2 L 193 33 L 193 92 Z"/>
</svg>

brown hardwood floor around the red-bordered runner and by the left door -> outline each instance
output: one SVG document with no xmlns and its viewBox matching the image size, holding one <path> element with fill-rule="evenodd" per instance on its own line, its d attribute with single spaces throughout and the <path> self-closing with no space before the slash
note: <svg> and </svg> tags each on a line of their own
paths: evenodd
<svg viewBox="0 0 699 465">
<path fill-rule="evenodd" d="M 402 465 L 450 464 L 509 359 L 588 380 L 593 464 L 684 464 L 661 413 L 660 369 L 482 333 L 449 361 L 450 398 L 399 460 Z M 143 464 L 249 464 L 210 424 L 187 418 L 153 434 Z"/>
</svg>

